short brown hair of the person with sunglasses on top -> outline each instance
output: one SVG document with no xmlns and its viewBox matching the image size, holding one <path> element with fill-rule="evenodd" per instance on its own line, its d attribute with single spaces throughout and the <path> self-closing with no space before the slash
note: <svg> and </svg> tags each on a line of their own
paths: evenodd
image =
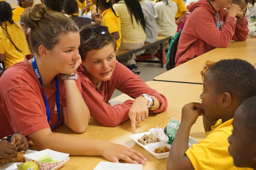
<svg viewBox="0 0 256 170">
<path fill-rule="evenodd" d="M 83 26 L 80 29 L 80 32 L 86 28 L 95 28 L 101 26 L 100 24 L 97 23 L 92 23 Z M 92 32 L 92 35 L 88 39 L 84 39 L 80 35 L 80 46 L 78 48 L 79 54 L 81 56 L 82 60 L 85 60 L 85 56 L 87 55 L 88 51 L 94 50 L 94 49 L 101 49 L 102 47 L 112 44 L 114 49 L 116 50 L 116 40 L 115 38 L 107 31 L 106 35 L 100 35 L 96 33 L 95 31 Z"/>
</svg>

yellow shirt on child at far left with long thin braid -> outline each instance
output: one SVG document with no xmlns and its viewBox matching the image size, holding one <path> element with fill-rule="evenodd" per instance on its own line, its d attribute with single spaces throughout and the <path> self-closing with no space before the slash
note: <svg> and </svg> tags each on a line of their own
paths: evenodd
<svg viewBox="0 0 256 170">
<path fill-rule="evenodd" d="M 18 49 L 21 50 L 21 52 L 19 52 L 14 47 L 11 41 L 7 38 L 6 31 L 4 31 L 2 27 L 0 27 L 0 54 L 5 54 L 6 56 L 4 61 L 5 69 L 9 68 L 15 63 L 23 61 L 25 55 L 30 54 L 25 32 L 23 31 L 21 24 L 15 24 L 11 24 L 9 21 L 7 21 L 7 31 L 13 43 Z M 6 25 L 5 22 L 2 22 L 2 26 L 4 28 L 6 27 Z"/>
</svg>

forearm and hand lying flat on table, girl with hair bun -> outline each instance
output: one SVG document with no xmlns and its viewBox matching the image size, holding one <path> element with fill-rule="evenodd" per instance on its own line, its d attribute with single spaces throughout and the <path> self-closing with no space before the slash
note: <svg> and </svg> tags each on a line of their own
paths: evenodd
<svg viewBox="0 0 256 170">
<path fill-rule="evenodd" d="M 50 128 L 41 129 L 28 135 L 40 149 L 52 149 L 70 155 L 103 156 L 109 161 L 145 164 L 145 157 L 137 150 L 126 146 L 96 139 L 79 138 L 62 133 L 52 133 Z"/>
</svg>

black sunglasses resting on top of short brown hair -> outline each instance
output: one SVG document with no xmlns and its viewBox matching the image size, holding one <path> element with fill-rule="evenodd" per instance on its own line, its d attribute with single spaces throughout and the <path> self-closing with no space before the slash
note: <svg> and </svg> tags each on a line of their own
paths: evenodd
<svg viewBox="0 0 256 170">
<path fill-rule="evenodd" d="M 107 35 L 108 27 L 100 25 L 94 28 L 85 28 L 80 32 L 80 36 L 84 39 L 88 39 L 93 32 L 96 32 L 100 35 Z"/>
</svg>

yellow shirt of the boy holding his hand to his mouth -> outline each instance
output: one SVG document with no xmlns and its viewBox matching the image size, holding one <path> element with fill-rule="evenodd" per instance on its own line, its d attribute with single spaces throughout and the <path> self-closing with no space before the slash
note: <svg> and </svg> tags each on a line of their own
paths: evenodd
<svg viewBox="0 0 256 170">
<path fill-rule="evenodd" d="M 195 170 L 249 170 L 251 168 L 237 168 L 228 152 L 228 136 L 232 134 L 233 118 L 222 123 L 217 121 L 212 131 L 206 134 L 205 139 L 193 144 L 186 151 L 186 155 Z"/>
</svg>

